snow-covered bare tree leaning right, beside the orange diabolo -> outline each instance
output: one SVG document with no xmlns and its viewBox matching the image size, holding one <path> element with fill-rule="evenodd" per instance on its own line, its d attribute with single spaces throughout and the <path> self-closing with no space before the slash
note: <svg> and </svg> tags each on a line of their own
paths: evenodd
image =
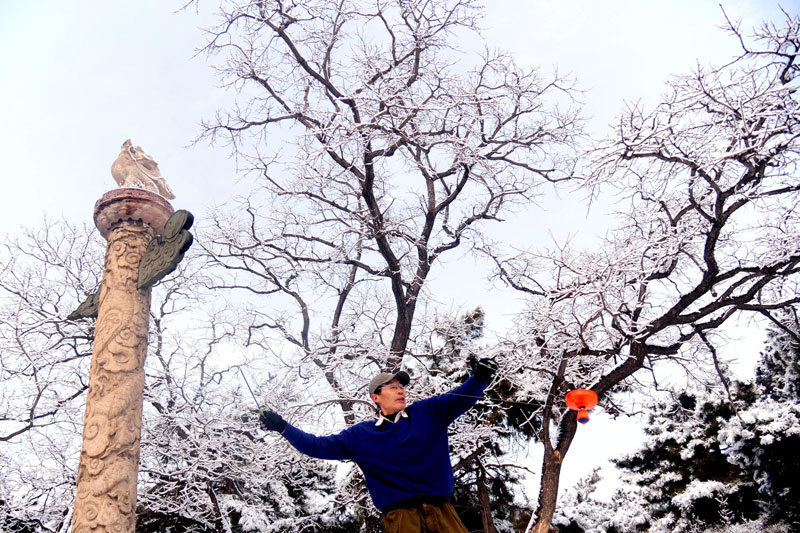
<svg viewBox="0 0 800 533">
<path fill-rule="evenodd" d="M 550 526 L 577 427 L 567 391 L 591 388 L 608 405 L 661 361 L 714 373 L 715 332 L 730 317 L 800 300 L 800 18 L 753 39 L 728 29 L 741 55 L 672 78 L 660 104 L 632 105 L 594 152 L 587 186 L 624 206 L 596 251 L 485 246 L 500 278 L 530 298 L 507 361 L 518 382 L 539 383 L 523 397 L 542 404 L 536 533 Z"/>
</svg>

